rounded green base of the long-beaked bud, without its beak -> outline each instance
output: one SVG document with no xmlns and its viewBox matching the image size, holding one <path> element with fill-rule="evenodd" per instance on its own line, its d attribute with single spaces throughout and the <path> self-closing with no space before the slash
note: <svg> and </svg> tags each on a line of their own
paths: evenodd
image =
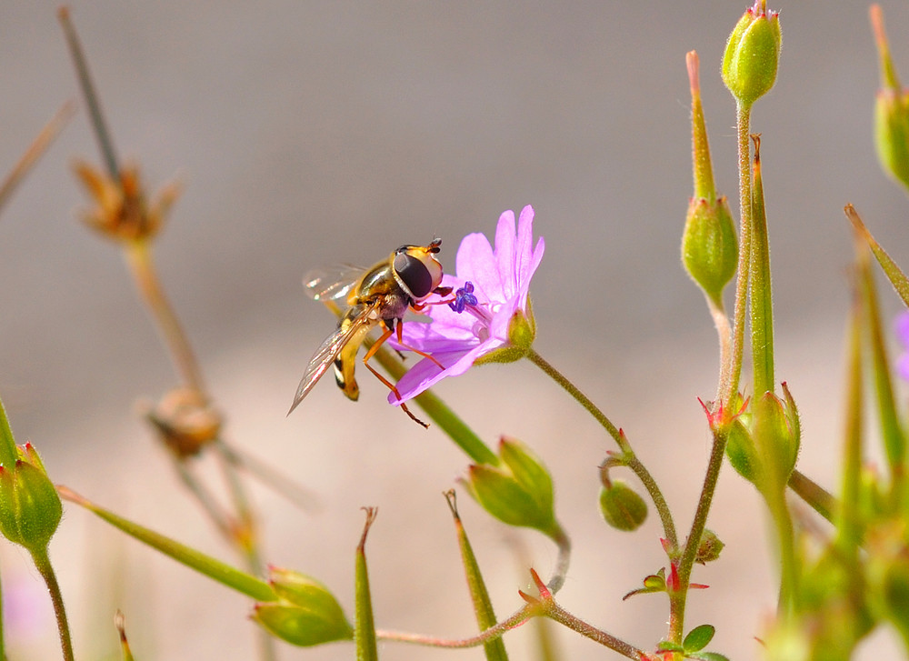
<svg viewBox="0 0 909 661">
<path fill-rule="evenodd" d="M 691 198 L 682 235 L 682 263 L 694 282 L 719 305 L 738 265 L 738 238 L 725 197 L 713 202 Z"/>
</svg>

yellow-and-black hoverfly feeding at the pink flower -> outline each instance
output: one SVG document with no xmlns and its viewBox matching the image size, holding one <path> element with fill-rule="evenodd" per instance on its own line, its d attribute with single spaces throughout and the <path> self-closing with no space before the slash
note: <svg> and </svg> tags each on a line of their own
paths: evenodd
<svg viewBox="0 0 909 661">
<path fill-rule="evenodd" d="M 375 352 L 395 331 L 398 344 L 405 346 L 401 324 L 408 310 L 419 312 L 430 305 L 425 303 L 430 295 L 445 296 L 451 293 L 451 287 L 439 286 L 442 282 L 442 265 L 435 255 L 441 245 L 442 239 L 433 239 L 429 245 L 402 245 L 388 258 L 365 271 L 353 266 L 336 266 L 318 269 L 305 276 L 306 293 L 314 300 L 343 301 L 347 309 L 338 320 L 335 332 L 325 338 L 325 342 L 310 359 L 300 386 L 296 389 L 294 403 L 287 412 L 288 416 L 332 365 L 335 366 L 338 387 L 348 399 L 356 401 L 360 395 L 360 388 L 354 378 L 356 352 L 375 326 L 382 328 L 382 335 L 366 352 L 363 364 L 398 399 L 401 398 L 395 385 L 376 372 L 369 364 L 369 359 L 375 356 Z M 433 356 L 414 347 L 405 348 L 435 361 Z M 438 361 L 435 362 L 438 364 Z M 405 404 L 402 403 L 401 408 L 415 422 L 427 426 Z"/>
</svg>

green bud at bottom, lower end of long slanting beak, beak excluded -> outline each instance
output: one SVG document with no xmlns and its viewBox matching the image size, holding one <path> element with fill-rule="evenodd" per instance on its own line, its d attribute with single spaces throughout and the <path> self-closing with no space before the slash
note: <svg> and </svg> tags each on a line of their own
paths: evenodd
<svg viewBox="0 0 909 661">
<path fill-rule="evenodd" d="M 297 646 L 350 640 L 354 628 L 328 588 L 310 576 L 271 567 L 270 583 L 279 600 L 257 604 L 253 619 L 269 633 Z"/>
</svg>

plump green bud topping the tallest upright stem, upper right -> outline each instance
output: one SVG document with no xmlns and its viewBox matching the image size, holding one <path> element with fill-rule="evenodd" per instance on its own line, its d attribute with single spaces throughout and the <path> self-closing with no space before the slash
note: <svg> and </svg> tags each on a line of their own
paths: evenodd
<svg viewBox="0 0 909 661">
<path fill-rule="evenodd" d="M 740 105 L 750 107 L 776 82 L 780 61 L 779 12 L 767 12 L 766 0 L 755 0 L 735 25 L 723 55 L 723 82 Z"/>
</svg>

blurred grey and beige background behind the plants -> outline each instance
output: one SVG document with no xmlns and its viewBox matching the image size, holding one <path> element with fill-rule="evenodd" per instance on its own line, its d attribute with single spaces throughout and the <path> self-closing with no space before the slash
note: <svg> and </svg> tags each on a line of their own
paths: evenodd
<svg viewBox="0 0 909 661">
<path fill-rule="evenodd" d="M 136 402 L 176 383 L 119 251 L 75 219 L 88 203 L 75 157 L 100 164 L 51 2 L 0 5 L 0 169 L 12 167 L 67 99 L 80 110 L 0 218 L 0 393 L 20 442 L 51 475 L 117 512 L 238 563 L 185 495 Z M 315 265 L 369 265 L 438 235 L 494 232 L 534 205 L 546 240 L 532 293 L 536 347 L 624 427 L 690 524 L 709 452 L 696 397 L 712 398 L 715 333 L 679 263 L 691 195 L 684 55 L 702 62 L 717 185 L 737 198 L 734 102 L 719 77 L 743 0 L 686 3 L 76 2 L 115 145 L 151 190 L 185 185 L 155 255 L 235 446 L 312 489 L 301 514 L 255 487 L 265 556 L 330 586 L 353 609 L 360 506 L 378 506 L 367 545 L 377 626 L 469 636 L 473 615 L 441 492 L 467 464 L 437 429 L 320 383 L 285 417 L 334 321 L 309 301 Z M 777 376 L 802 411 L 799 466 L 835 488 L 853 203 L 891 254 L 909 260 L 909 199 L 881 173 L 871 118 L 877 59 L 865 3 L 792 2 L 774 91 L 754 109 L 774 265 Z M 909 75 L 909 7 L 884 5 Z M 737 215 L 737 204 L 732 205 Z M 888 315 L 898 309 L 887 290 Z M 574 539 L 565 608 L 630 642 L 664 635 L 662 596 L 621 597 L 664 566 L 655 517 L 604 525 L 597 464 L 613 448 L 584 411 L 527 364 L 476 369 L 438 387 L 493 444 L 523 439 L 551 468 Z M 217 478 L 202 462 L 200 468 Z M 548 575 L 551 544 L 513 532 L 461 498 L 500 615 L 521 602 L 526 568 Z M 754 489 L 724 469 L 708 526 L 726 543 L 697 567 L 709 584 L 688 624 L 717 626 L 711 649 L 754 658 L 774 608 L 776 569 Z M 249 603 L 116 533 L 75 506 L 51 546 L 77 656 L 115 646 L 114 609 L 141 659 L 249 659 Z M 50 607 L 25 553 L 0 545 L 10 656 L 54 658 Z M 565 658 L 614 658 L 570 632 Z M 888 648 L 876 636 L 867 654 Z M 505 638 L 532 659 L 525 626 Z M 876 650 L 876 652 L 875 652 Z M 482 658 L 384 643 L 384 659 Z M 349 645 L 283 659 L 354 656 Z"/>
</svg>

